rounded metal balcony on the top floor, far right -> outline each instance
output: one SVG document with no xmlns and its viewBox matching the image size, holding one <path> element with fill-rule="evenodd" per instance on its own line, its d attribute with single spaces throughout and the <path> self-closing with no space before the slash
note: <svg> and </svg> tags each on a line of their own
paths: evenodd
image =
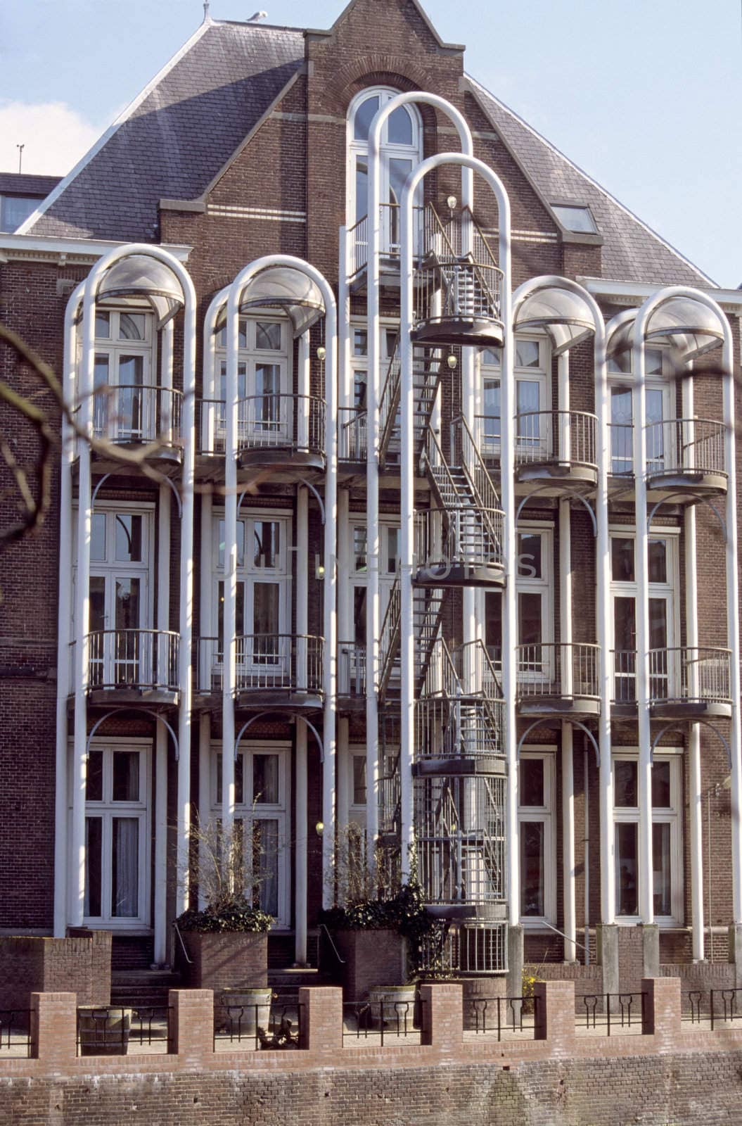
<svg viewBox="0 0 742 1126">
<path fill-rule="evenodd" d="M 653 493 L 724 495 L 727 489 L 726 427 L 710 419 L 650 422 L 646 436 L 646 488 Z"/>
</svg>

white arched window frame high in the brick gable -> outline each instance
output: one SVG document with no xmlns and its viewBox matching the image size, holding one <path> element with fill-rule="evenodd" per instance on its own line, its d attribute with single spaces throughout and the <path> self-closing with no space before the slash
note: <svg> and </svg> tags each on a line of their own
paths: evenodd
<svg viewBox="0 0 742 1126">
<path fill-rule="evenodd" d="M 356 125 L 356 114 L 359 107 L 368 100 L 368 98 L 378 97 L 379 108 L 384 106 L 392 98 L 395 98 L 400 91 L 387 86 L 373 86 L 367 87 L 365 90 L 360 90 L 356 97 L 352 99 L 348 106 L 348 118 L 347 118 L 347 151 L 348 158 L 346 163 L 346 215 L 347 224 L 349 227 L 355 226 L 355 224 L 363 218 L 363 215 L 357 215 L 356 211 L 356 167 L 359 158 L 366 158 L 366 167 L 368 168 L 368 141 L 356 140 L 355 137 L 355 125 Z M 391 182 L 390 182 L 390 160 L 411 160 L 412 168 L 414 169 L 423 158 L 423 129 L 422 129 L 422 118 L 420 117 L 420 111 L 417 106 L 408 104 L 404 109 L 408 111 L 410 119 L 412 122 L 412 144 L 392 144 L 388 141 L 388 118 L 384 123 L 382 129 L 381 138 L 381 155 L 382 155 L 382 173 L 381 173 L 381 195 L 379 202 L 382 205 L 388 203 L 391 195 Z M 415 196 L 415 204 L 420 204 L 422 200 L 422 185 L 418 189 Z M 383 207 L 382 209 L 382 222 L 381 222 L 381 251 L 382 253 L 393 253 L 399 254 L 399 224 L 395 227 L 390 221 L 390 208 Z"/>
</svg>

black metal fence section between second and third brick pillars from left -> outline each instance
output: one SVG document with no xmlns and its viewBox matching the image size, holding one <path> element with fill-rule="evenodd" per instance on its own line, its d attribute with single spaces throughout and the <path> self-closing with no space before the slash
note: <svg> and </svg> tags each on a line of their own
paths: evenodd
<svg viewBox="0 0 742 1126">
<path fill-rule="evenodd" d="M 301 1047 L 302 1010 L 298 995 L 274 997 L 262 1004 L 242 1004 L 225 994 L 214 998 L 214 1051 L 239 1044 L 254 1051 Z"/>
</svg>

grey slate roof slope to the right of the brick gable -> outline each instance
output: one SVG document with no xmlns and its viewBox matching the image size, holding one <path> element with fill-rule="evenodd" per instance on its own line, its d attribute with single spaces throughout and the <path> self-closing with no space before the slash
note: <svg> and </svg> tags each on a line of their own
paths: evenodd
<svg viewBox="0 0 742 1126">
<path fill-rule="evenodd" d="M 715 286 L 512 109 L 466 75 L 472 93 L 546 203 L 588 204 L 602 235 L 602 276 L 615 282 Z"/>
</svg>

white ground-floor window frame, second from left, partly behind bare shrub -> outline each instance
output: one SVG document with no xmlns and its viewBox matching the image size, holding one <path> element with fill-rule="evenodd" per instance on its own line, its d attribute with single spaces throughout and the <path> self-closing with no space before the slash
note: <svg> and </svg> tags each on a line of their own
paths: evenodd
<svg viewBox="0 0 742 1126">
<path fill-rule="evenodd" d="M 211 822 L 217 826 L 222 816 L 222 798 L 217 786 L 217 762 L 223 753 L 221 742 L 212 743 L 212 754 L 209 763 L 209 811 Z M 248 766 L 252 762 L 252 754 L 276 754 L 278 757 L 278 796 L 277 803 L 254 802 L 252 793 L 252 770 Z M 292 841 L 292 744 L 285 740 L 261 740 L 240 741 L 238 757 L 242 765 L 242 802 L 234 806 L 235 821 L 251 823 L 256 820 L 269 820 L 278 822 L 278 914 L 274 915 L 276 922 L 274 930 L 288 930 L 292 922 L 292 865 L 290 865 L 290 841 Z M 238 765 L 235 763 L 235 769 Z M 249 866 L 245 865 L 245 873 L 249 875 Z M 247 890 L 247 888 L 245 888 Z"/>
</svg>

